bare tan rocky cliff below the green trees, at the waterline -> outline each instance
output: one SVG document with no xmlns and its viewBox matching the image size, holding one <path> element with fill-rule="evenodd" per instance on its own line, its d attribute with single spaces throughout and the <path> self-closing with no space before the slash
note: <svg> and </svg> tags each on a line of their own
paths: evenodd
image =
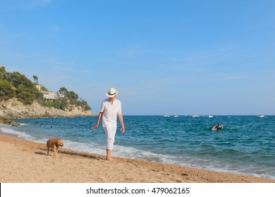
<svg viewBox="0 0 275 197">
<path fill-rule="evenodd" d="M 59 110 L 40 106 L 37 101 L 32 105 L 24 105 L 17 98 L 0 102 L 0 117 L 5 118 L 28 118 L 28 117 L 76 117 L 91 116 L 90 110 L 83 110 L 79 106 L 72 107 L 72 110 Z"/>
</svg>

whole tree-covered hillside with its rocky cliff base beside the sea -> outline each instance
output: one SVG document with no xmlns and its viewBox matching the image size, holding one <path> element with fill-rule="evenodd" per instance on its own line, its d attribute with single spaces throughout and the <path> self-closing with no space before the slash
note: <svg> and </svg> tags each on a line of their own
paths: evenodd
<svg viewBox="0 0 275 197">
<path fill-rule="evenodd" d="M 74 91 L 61 87 L 54 98 L 45 97 L 50 91 L 30 81 L 19 72 L 6 72 L 0 66 L 0 117 L 75 117 L 92 115 L 90 106 Z M 37 89 L 37 86 L 43 87 Z M 49 96 L 49 95 L 47 95 Z"/>
</svg>

